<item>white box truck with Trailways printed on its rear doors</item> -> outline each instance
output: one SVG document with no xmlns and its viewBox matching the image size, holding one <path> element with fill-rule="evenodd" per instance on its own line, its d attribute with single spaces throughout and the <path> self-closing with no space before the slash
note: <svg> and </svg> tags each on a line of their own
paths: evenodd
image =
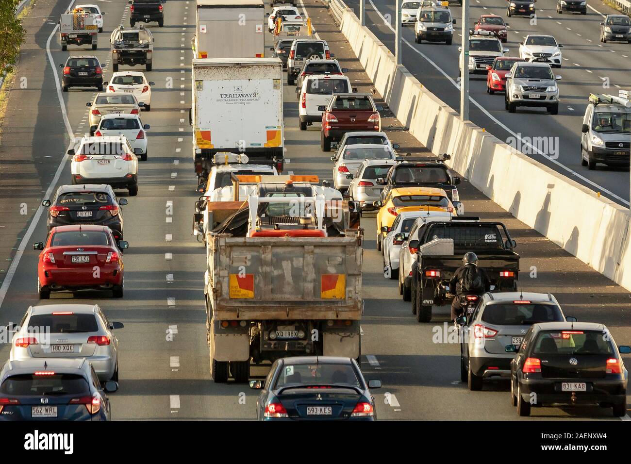
<svg viewBox="0 0 631 464">
<path fill-rule="evenodd" d="M 193 159 L 204 181 L 217 153 L 245 153 L 282 172 L 283 63 L 279 58 L 193 59 Z"/>
</svg>

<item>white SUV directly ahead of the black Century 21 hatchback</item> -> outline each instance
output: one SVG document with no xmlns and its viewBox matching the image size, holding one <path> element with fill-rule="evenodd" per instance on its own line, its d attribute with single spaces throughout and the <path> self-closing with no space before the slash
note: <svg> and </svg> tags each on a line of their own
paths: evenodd
<svg viewBox="0 0 631 464">
<path fill-rule="evenodd" d="M 72 157 L 73 184 L 107 184 L 127 189 L 138 195 L 138 158 L 140 148 L 133 150 L 124 135 L 118 137 L 83 137 Z"/>
</svg>

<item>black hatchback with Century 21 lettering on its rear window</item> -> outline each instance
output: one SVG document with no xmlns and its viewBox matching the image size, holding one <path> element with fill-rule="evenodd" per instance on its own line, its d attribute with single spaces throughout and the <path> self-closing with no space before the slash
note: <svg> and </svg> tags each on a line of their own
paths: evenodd
<svg viewBox="0 0 631 464">
<path fill-rule="evenodd" d="M 117 200 L 112 187 L 92 184 L 61 186 L 52 201 L 42 201 L 49 213 L 48 232 L 59 225 L 107 225 L 117 241 L 122 240 L 121 206 L 124 205 L 127 205 L 127 199 Z"/>
</svg>

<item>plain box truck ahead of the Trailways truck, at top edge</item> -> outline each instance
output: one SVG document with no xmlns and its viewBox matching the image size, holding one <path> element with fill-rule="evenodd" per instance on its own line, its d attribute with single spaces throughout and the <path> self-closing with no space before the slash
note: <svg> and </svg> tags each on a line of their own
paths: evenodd
<svg viewBox="0 0 631 464">
<path fill-rule="evenodd" d="M 198 58 L 262 58 L 266 18 L 262 0 L 197 0 Z"/>
</svg>

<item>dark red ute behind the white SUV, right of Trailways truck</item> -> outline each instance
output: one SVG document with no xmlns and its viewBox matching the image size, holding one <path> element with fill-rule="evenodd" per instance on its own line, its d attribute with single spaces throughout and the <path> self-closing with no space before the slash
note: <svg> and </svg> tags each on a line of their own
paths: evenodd
<svg viewBox="0 0 631 464">
<path fill-rule="evenodd" d="M 331 142 L 341 140 L 347 132 L 381 131 L 380 107 L 369 93 L 334 93 L 322 111 L 321 147 L 331 151 Z"/>
</svg>

